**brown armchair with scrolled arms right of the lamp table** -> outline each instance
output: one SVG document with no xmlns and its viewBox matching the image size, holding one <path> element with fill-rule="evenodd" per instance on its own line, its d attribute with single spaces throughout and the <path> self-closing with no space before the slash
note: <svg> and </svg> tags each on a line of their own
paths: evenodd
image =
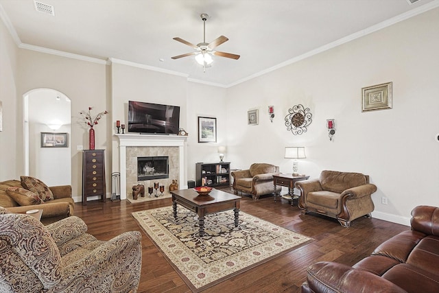
<svg viewBox="0 0 439 293">
<path fill-rule="evenodd" d="M 375 209 L 371 195 L 377 187 L 369 176 L 353 172 L 322 171 L 319 179 L 296 182 L 302 213 L 320 213 L 335 218 L 344 227 Z"/>
</svg>

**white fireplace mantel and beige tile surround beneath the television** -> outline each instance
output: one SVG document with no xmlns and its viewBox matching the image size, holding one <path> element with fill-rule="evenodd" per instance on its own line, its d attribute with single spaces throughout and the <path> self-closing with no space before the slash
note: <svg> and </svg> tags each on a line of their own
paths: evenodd
<svg viewBox="0 0 439 293">
<path fill-rule="evenodd" d="M 180 189 L 187 188 L 185 184 L 185 142 L 187 137 L 178 135 L 154 135 L 154 134 L 115 134 L 119 139 L 119 166 L 121 172 L 121 200 L 125 200 L 128 192 L 132 191 L 132 185 L 137 183 L 137 154 L 161 156 L 161 152 L 169 153 L 169 163 L 174 161 L 177 166 L 169 166 L 174 169 L 178 176 L 178 185 Z M 173 150 L 175 152 L 173 154 Z M 128 157 L 129 156 L 129 157 Z M 131 158 L 135 156 L 134 158 Z M 174 157 L 175 159 L 171 159 Z M 130 161 L 136 160 L 135 171 L 136 179 L 133 179 L 130 168 Z M 178 169 L 178 172 L 177 172 Z M 171 180 L 169 176 L 169 180 Z M 168 187 L 169 185 L 167 185 Z M 165 187 L 165 188 L 167 188 Z"/>
</svg>

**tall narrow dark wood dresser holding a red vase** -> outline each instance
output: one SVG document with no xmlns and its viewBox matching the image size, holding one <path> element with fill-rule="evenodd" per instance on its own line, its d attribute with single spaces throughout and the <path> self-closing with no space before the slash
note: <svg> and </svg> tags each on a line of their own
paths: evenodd
<svg viewBox="0 0 439 293">
<path fill-rule="evenodd" d="M 105 150 L 84 150 L 82 154 L 82 204 L 88 196 L 101 196 L 106 201 Z"/>
</svg>

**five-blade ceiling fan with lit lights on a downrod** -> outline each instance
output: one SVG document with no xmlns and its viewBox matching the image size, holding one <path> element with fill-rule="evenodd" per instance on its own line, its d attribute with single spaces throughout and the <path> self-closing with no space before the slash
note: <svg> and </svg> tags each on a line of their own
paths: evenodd
<svg viewBox="0 0 439 293">
<path fill-rule="evenodd" d="M 218 38 L 215 38 L 213 42 L 206 43 L 206 20 L 209 18 L 209 15 L 207 15 L 206 13 L 202 13 L 200 14 L 200 17 L 203 21 L 203 27 L 204 27 L 203 42 L 198 43 L 197 45 L 193 45 L 192 43 L 189 43 L 187 40 L 183 40 L 182 38 L 176 37 L 174 38 L 174 40 L 183 43 L 185 45 L 188 45 L 189 47 L 192 47 L 196 51 L 174 56 L 171 58 L 175 60 L 175 59 L 195 55 L 195 60 L 198 62 L 198 64 L 203 65 L 204 68 L 206 68 L 208 65 L 211 65 L 211 63 L 213 62 L 212 59 L 213 55 L 238 60 L 240 57 L 239 55 L 214 50 L 216 47 L 218 47 L 222 43 L 225 43 L 228 40 L 228 38 L 226 38 L 225 36 L 219 36 Z"/>
</svg>

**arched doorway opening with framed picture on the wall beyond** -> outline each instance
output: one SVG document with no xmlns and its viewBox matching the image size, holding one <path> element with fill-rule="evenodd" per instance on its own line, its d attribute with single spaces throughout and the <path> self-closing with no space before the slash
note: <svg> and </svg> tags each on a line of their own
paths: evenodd
<svg viewBox="0 0 439 293">
<path fill-rule="evenodd" d="M 25 175 L 48 186 L 71 185 L 71 100 L 54 89 L 23 95 Z M 59 137 L 51 143 L 47 137 Z M 65 139 L 65 141 L 64 141 Z"/>
</svg>

